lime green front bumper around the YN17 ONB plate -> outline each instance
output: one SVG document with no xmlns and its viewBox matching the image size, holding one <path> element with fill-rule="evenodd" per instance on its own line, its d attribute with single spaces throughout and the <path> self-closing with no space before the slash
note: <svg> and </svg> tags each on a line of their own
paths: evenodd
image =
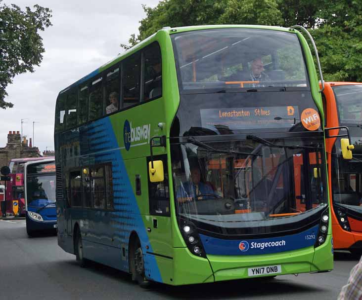
<svg viewBox="0 0 362 300">
<path fill-rule="evenodd" d="M 333 269 L 332 235 L 319 247 L 308 247 L 265 255 L 207 255 L 207 259 L 192 255 L 187 248 L 176 248 L 173 285 L 195 284 L 242 278 L 286 274 L 325 272 Z M 281 265 L 281 272 L 249 276 L 248 268 Z"/>
</svg>

